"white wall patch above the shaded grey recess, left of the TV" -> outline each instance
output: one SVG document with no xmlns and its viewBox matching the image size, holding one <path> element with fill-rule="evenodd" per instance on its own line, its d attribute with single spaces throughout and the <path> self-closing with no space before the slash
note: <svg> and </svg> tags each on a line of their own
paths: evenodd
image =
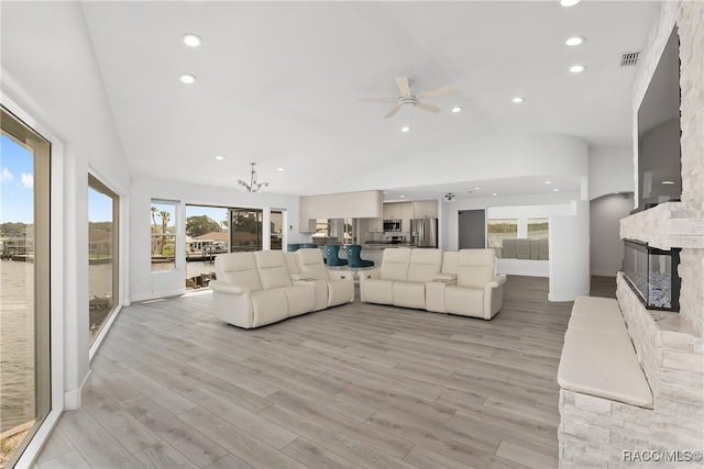
<svg viewBox="0 0 704 469">
<path fill-rule="evenodd" d="M 607 193 L 632 191 L 632 147 L 609 146 L 590 148 L 590 200 Z"/>
</svg>

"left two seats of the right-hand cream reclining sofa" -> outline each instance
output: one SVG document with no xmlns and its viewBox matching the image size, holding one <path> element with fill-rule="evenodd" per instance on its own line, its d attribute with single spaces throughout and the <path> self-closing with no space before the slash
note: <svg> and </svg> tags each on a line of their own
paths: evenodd
<svg viewBox="0 0 704 469">
<path fill-rule="evenodd" d="M 360 299 L 369 303 L 426 309 L 426 282 L 442 267 L 442 250 L 384 249 L 380 268 L 360 272 Z"/>
</svg>

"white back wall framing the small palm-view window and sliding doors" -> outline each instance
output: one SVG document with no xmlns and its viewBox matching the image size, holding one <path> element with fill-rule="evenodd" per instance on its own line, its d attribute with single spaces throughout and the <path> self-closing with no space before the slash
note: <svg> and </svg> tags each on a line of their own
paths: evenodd
<svg viewBox="0 0 704 469">
<path fill-rule="evenodd" d="M 132 182 L 130 208 L 130 292 L 132 301 L 143 301 L 182 294 L 186 291 L 185 250 L 176 249 L 176 269 L 152 273 L 151 206 L 152 199 L 177 201 L 176 246 L 185 245 L 185 205 L 241 206 L 249 209 L 283 209 L 286 211 L 284 245 L 309 242 L 310 235 L 299 233 L 298 196 L 270 192 L 242 192 L 232 188 L 189 185 L 185 182 L 138 177 Z M 266 224 L 265 224 L 266 225 Z"/>
</svg>

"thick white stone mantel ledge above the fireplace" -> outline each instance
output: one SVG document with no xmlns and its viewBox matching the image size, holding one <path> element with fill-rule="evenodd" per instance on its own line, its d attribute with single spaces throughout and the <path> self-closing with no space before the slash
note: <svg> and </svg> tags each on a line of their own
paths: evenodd
<svg viewBox="0 0 704 469">
<path fill-rule="evenodd" d="M 658 249 L 704 248 L 704 203 L 666 202 L 620 221 L 620 237 Z"/>
</svg>

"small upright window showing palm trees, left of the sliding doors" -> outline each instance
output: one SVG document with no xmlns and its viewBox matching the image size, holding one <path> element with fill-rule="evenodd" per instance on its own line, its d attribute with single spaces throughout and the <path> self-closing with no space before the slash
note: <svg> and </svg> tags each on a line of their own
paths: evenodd
<svg viewBox="0 0 704 469">
<path fill-rule="evenodd" d="M 152 271 L 176 269 L 176 202 L 152 201 Z"/>
</svg>

